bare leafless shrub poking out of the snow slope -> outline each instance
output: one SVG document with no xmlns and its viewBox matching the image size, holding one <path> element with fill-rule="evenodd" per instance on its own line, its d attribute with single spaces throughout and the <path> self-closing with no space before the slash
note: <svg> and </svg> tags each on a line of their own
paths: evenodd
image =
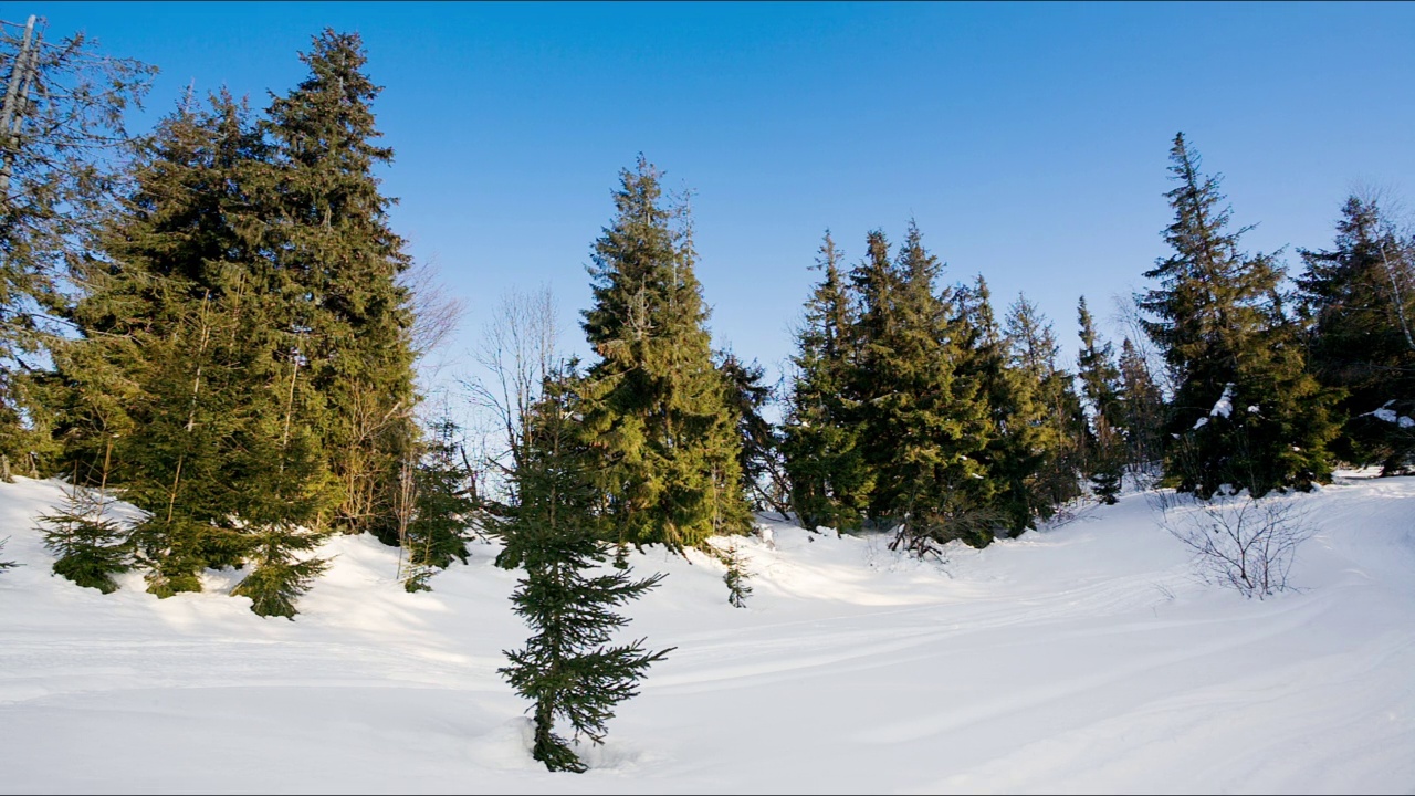
<svg viewBox="0 0 1415 796">
<path fill-rule="evenodd" d="M 1290 496 L 1215 494 L 1182 506 L 1173 493 L 1152 493 L 1160 525 L 1194 554 L 1210 584 L 1264 599 L 1293 588 L 1288 582 L 1298 547 L 1315 528 L 1309 511 Z"/>
</svg>

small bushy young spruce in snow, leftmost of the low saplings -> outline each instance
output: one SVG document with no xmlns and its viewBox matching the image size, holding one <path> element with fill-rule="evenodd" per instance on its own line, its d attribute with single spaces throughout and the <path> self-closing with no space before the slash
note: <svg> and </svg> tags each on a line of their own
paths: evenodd
<svg viewBox="0 0 1415 796">
<path fill-rule="evenodd" d="M 132 569 L 127 528 L 108 516 L 110 499 L 74 484 L 64 507 L 38 518 L 44 547 L 58 555 L 54 574 L 103 593 L 117 591 L 113 575 Z"/>
</svg>

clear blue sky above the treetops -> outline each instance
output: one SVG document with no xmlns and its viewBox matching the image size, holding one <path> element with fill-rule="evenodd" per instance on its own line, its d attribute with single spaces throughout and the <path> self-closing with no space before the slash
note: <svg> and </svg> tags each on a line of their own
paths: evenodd
<svg viewBox="0 0 1415 796">
<path fill-rule="evenodd" d="M 549 283 L 584 350 L 584 263 L 638 152 L 692 188 L 717 344 L 792 350 L 831 228 L 850 263 L 908 218 L 948 266 L 1019 290 L 1070 358 L 1166 254 L 1177 130 L 1249 249 L 1332 242 L 1358 181 L 1415 181 L 1409 3 L 8 3 L 258 109 L 330 25 L 364 35 L 395 228 L 468 306 L 457 357 L 509 286 Z M 466 367 L 466 363 L 463 363 Z"/>
</svg>

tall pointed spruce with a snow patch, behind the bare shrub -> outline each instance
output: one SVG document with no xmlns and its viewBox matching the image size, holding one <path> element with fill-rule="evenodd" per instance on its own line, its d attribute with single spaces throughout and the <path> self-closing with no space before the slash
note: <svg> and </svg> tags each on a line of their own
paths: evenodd
<svg viewBox="0 0 1415 796">
<path fill-rule="evenodd" d="M 1208 497 L 1221 484 L 1254 496 L 1310 489 L 1330 476 L 1332 397 L 1305 368 L 1300 341 L 1278 292 L 1272 255 L 1245 255 L 1227 229 L 1218 178 L 1200 173 L 1184 136 L 1170 150 L 1166 195 L 1174 254 L 1145 273 L 1156 279 L 1140 307 L 1145 330 L 1176 374 L 1166 431 L 1166 474 L 1183 491 Z"/>
</svg>

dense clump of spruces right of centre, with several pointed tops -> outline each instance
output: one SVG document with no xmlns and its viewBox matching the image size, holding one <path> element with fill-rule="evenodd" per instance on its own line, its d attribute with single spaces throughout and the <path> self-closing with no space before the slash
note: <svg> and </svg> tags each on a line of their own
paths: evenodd
<svg viewBox="0 0 1415 796">
<path fill-rule="evenodd" d="M 805 527 L 870 524 L 916 554 L 1020 533 L 1078 493 L 1085 425 L 1050 327 L 1026 300 L 1005 337 L 986 283 L 938 289 L 917 225 L 825 279 L 798 333 L 782 450 Z"/>
</svg>

